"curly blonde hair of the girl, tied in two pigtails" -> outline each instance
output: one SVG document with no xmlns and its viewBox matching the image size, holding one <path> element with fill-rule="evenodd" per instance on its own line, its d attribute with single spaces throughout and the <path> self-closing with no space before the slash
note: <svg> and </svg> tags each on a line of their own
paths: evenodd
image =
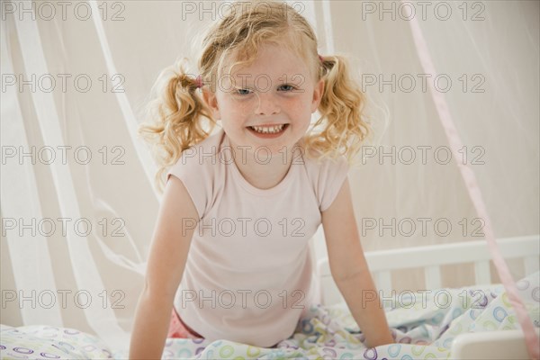
<svg viewBox="0 0 540 360">
<path fill-rule="evenodd" d="M 349 74 L 347 58 L 338 55 L 320 59 L 317 38 L 311 25 L 291 6 L 274 1 L 235 2 L 219 23 L 211 26 L 202 40 L 199 59 L 202 85 L 215 91 L 226 58 L 251 64 L 263 43 L 290 49 L 310 67 L 312 78 L 324 78 L 325 89 L 319 106 L 320 118 L 302 141 L 305 154 L 320 160 L 344 155 L 350 164 L 369 132 L 363 108 L 365 95 Z M 139 133 L 153 144 L 159 169 L 157 187 L 161 191 L 169 166 L 182 152 L 211 135 L 216 125 L 210 108 L 197 94 L 198 81 L 186 74 L 187 62 L 180 59 L 167 67 L 152 87 L 157 96 L 148 103 L 153 123 L 143 124 Z M 205 126 L 206 129 L 205 130 Z M 320 130 L 317 130 L 320 129 Z"/>
</svg>

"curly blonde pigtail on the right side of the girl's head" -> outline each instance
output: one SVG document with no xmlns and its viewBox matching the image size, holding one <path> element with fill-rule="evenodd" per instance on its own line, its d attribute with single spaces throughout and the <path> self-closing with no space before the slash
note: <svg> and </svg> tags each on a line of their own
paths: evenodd
<svg viewBox="0 0 540 360">
<path fill-rule="evenodd" d="M 314 128 L 323 129 L 307 137 L 305 146 L 316 150 L 320 158 L 344 155 L 352 164 L 370 130 L 363 114 L 365 94 L 352 80 L 349 68 L 342 56 L 320 57 L 325 89 L 319 106 L 321 117 Z"/>
</svg>

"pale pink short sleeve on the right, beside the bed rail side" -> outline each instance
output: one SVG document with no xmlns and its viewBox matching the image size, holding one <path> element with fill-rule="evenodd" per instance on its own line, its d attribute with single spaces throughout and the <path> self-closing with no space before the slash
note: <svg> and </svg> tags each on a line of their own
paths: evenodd
<svg viewBox="0 0 540 360">
<path fill-rule="evenodd" d="M 332 202 L 334 202 L 347 178 L 348 170 L 347 158 L 344 156 L 328 159 L 321 164 L 316 184 L 320 212 L 328 210 Z"/>
</svg>

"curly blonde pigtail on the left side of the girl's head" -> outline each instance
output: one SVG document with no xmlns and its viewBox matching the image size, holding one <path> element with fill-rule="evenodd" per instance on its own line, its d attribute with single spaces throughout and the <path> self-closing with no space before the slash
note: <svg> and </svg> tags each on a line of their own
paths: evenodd
<svg viewBox="0 0 540 360">
<path fill-rule="evenodd" d="M 216 124 L 197 94 L 204 84 L 202 76 L 187 74 L 185 67 L 183 58 L 159 74 L 146 109 L 150 122 L 139 127 L 139 134 L 151 144 L 157 161 L 155 180 L 159 192 L 165 186 L 168 167 L 178 161 L 185 149 L 208 138 Z M 205 122 L 209 125 L 207 130 Z"/>
</svg>

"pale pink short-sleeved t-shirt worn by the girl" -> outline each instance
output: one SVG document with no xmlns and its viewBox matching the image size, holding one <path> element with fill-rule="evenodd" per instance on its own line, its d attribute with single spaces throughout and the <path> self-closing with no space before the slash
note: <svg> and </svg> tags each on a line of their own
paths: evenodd
<svg viewBox="0 0 540 360">
<path fill-rule="evenodd" d="M 281 183 L 262 190 L 240 174 L 222 129 L 185 150 L 167 174 L 182 180 L 200 217 L 179 219 L 194 229 L 175 296 L 185 324 L 257 347 L 293 335 L 314 296 L 309 241 L 347 172 L 345 157 L 317 164 L 298 151 Z"/>
</svg>

